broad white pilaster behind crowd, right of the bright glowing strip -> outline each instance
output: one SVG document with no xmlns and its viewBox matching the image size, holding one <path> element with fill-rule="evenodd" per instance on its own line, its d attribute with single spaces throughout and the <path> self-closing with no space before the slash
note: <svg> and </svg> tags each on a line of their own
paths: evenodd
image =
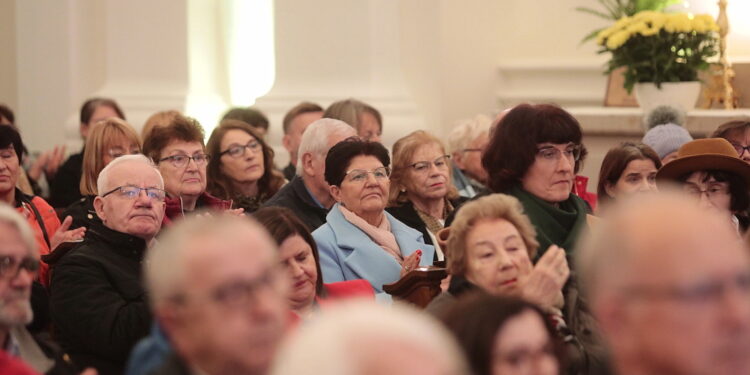
<svg viewBox="0 0 750 375">
<path fill-rule="evenodd" d="M 256 105 L 281 144 L 281 119 L 303 100 L 323 107 L 354 97 L 383 115 L 383 143 L 423 126 L 404 86 L 397 1 L 275 1 L 276 81 Z M 288 155 L 277 148 L 277 165 Z"/>
</svg>

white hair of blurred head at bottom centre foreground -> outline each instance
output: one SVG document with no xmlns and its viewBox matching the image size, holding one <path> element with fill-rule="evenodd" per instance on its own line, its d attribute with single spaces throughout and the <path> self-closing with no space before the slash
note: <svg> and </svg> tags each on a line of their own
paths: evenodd
<svg viewBox="0 0 750 375">
<path fill-rule="evenodd" d="M 373 357 L 388 361 L 379 351 L 394 344 L 407 352 L 427 353 L 441 373 L 468 374 L 462 352 L 438 321 L 406 305 L 383 306 L 372 300 L 339 303 L 300 326 L 275 356 L 271 374 L 371 373 L 363 367 L 372 364 Z"/>
</svg>

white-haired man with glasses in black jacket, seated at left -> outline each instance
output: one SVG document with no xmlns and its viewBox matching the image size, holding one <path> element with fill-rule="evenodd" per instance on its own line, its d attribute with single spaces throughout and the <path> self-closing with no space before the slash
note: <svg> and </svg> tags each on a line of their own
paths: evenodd
<svg viewBox="0 0 750 375">
<path fill-rule="evenodd" d="M 54 264 L 50 308 L 57 338 L 76 364 L 121 374 L 151 323 L 141 263 L 161 229 L 166 192 L 143 155 L 112 161 L 97 187 L 94 208 L 102 224 Z"/>
</svg>

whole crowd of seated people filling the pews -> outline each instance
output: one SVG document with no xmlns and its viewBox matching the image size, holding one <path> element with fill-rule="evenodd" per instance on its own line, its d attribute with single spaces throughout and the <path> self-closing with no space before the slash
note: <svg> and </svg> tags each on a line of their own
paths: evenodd
<svg viewBox="0 0 750 375">
<path fill-rule="evenodd" d="M 384 145 L 302 102 L 285 166 L 257 108 L 93 98 L 63 162 L 0 106 L 0 373 L 750 374 L 750 122 L 648 119 L 592 194 L 551 104 Z"/>
</svg>

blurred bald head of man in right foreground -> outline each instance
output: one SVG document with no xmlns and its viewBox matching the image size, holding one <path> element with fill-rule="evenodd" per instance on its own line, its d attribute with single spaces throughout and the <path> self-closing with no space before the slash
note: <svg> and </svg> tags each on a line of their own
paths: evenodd
<svg viewBox="0 0 750 375">
<path fill-rule="evenodd" d="M 677 193 L 629 199 L 577 270 L 618 374 L 750 374 L 750 255 L 725 218 Z"/>
</svg>

